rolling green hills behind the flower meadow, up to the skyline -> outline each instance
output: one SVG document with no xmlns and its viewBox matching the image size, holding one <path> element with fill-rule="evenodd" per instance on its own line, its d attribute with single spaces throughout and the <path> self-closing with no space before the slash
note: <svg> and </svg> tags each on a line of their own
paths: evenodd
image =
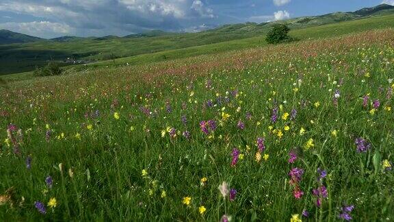
<svg viewBox="0 0 394 222">
<path fill-rule="evenodd" d="M 287 23 L 294 32 L 298 29 L 317 27 L 343 21 L 358 21 L 369 18 L 378 19 L 394 14 L 393 6 L 378 5 L 356 12 L 337 12 L 322 16 L 293 18 L 272 23 L 244 23 L 224 25 L 199 33 L 174 34 L 153 30 L 146 34 L 130 36 L 104 36 L 101 38 L 77 38 L 64 36 L 46 42 L 30 42 L 19 45 L 0 45 L 0 75 L 31 71 L 36 66 L 47 64 L 49 60 L 63 61 L 66 58 L 77 60 L 104 61 L 114 58 L 127 58 L 146 53 L 159 53 L 168 50 L 186 49 L 211 45 L 231 40 L 263 36 L 273 24 Z M 356 24 L 356 23 L 355 23 Z M 357 24 L 356 24 L 357 25 Z M 377 27 L 391 27 L 390 20 L 376 24 Z M 359 27 L 363 29 L 363 27 Z M 354 29 L 358 29 L 355 27 Z M 261 38 L 261 37 L 259 37 Z M 215 45 L 213 45 L 215 47 Z M 226 46 L 225 48 L 227 48 Z M 249 45 L 248 47 L 252 47 Z M 205 49 L 205 47 L 202 47 Z M 208 47 L 209 48 L 209 47 Z M 204 50 L 194 53 L 205 53 Z M 155 55 L 154 55 L 155 56 Z M 170 56 L 171 57 L 171 56 Z M 161 60 L 170 58 L 163 56 Z M 6 64 L 6 65 L 5 65 Z"/>
</svg>

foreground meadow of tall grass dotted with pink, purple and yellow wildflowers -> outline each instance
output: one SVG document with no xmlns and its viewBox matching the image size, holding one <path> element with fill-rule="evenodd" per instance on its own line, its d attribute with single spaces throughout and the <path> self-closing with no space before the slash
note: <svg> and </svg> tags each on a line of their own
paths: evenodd
<svg viewBox="0 0 394 222">
<path fill-rule="evenodd" d="M 0 89 L 5 221 L 391 221 L 394 31 Z"/>
</svg>

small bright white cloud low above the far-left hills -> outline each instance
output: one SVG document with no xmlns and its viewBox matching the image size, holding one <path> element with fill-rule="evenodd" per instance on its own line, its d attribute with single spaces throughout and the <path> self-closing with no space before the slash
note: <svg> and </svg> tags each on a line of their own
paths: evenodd
<svg viewBox="0 0 394 222">
<path fill-rule="evenodd" d="M 34 21 L 30 23 L 0 23 L 0 29 L 11 29 L 30 36 L 51 36 L 54 34 L 72 34 L 75 30 L 62 23 Z"/>
</svg>

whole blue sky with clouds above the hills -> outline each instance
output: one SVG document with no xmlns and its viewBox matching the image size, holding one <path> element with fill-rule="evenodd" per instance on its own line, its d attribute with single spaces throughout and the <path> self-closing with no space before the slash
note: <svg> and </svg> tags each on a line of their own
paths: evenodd
<svg viewBox="0 0 394 222">
<path fill-rule="evenodd" d="M 351 12 L 394 0 L 0 0 L 0 29 L 40 38 L 200 32 L 230 23 Z"/>
</svg>

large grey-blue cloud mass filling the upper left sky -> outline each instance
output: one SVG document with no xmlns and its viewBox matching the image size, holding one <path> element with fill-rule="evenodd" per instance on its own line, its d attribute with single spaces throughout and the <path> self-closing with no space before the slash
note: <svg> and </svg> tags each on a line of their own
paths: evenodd
<svg viewBox="0 0 394 222">
<path fill-rule="evenodd" d="M 2 0 L 0 11 L 63 24 L 81 36 L 126 35 L 150 29 L 177 32 L 216 17 L 204 0 Z"/>
</svg>

